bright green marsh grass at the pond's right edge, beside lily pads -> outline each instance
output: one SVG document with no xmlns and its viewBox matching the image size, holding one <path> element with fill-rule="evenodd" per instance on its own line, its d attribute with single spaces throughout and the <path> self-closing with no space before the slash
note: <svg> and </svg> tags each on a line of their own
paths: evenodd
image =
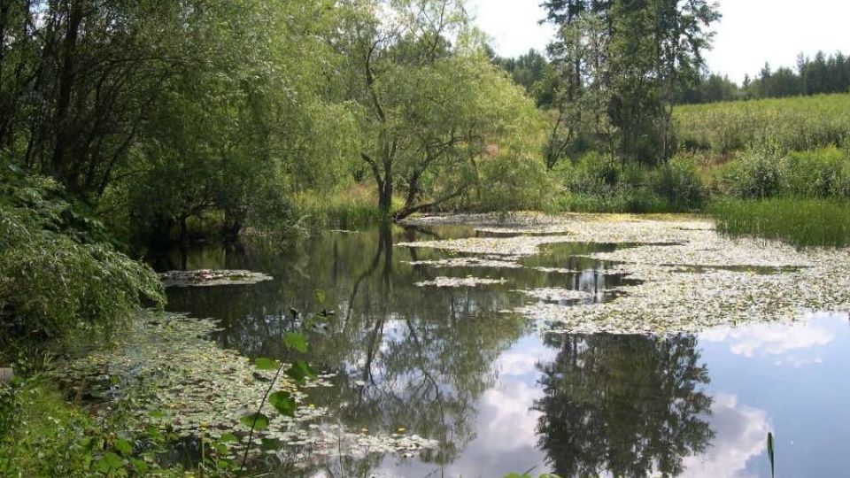
<svg viewBox="0 0 850 478">
<path fill-rule="evenodd" d="M 717 230 L 790 243 L 797 248 L 850 245 L 850 202 L 838 199 L 723 200 L 708 213 Z"/>
</svg>

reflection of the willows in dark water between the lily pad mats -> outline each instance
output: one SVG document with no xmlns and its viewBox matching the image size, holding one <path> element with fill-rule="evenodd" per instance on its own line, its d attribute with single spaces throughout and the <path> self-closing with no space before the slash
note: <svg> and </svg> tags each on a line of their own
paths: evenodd
<svg viewBox="0 0 850 478">
<path fill-rule="evenodd" d="M 464 233 L 471 231 L 458 234 Z M 308 332 L 309 361 L 338 374 L 336 387 L 313 390 L 313 403 L 327 406 L 349 431 L 367 428 L 369 434 L 391 434 L 406 428 L 436 439 L 440 446 L 423 451 L 420 458 L 449 464 L 475 438 L 475 403 L 496 380 L 494 360 L 528 333 L 530 325 L 498 312 L 524 300 L 507 287 L 414 286 L 439 274 L 495 272 L 412 266 L 406 262 L 444 258 L 444 253 L 393 247 L 398 240 L 433 235 L 386 226 L 362 234 L 326 235 L 288 251 L 285 259 L 251 249 L 225 254 L 219 267 L 265 271 L 275 280 L 251 288 L 221 288 L 214 294 L 200 288 L 172 290 L 169 307 L 224 320 L 219 337 L 224 346 L 267 357 L 281 352 L 282 326 L 294 327 L 290 307 L 335 309 L 326 333 Z M 527 274 L 545 283 L 544 274 Z M 331 476 L 360 476 L 382 460 L 375 455 L 334 459 L 320 468 Z"/>
</svg>

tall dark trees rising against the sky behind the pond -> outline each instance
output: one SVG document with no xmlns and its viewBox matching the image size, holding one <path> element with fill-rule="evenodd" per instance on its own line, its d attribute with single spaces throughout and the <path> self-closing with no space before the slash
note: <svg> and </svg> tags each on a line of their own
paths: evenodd
<svg viewBox="0 0 850 478">
<path fill-rule="evenodd" d="M 567 91 L 561 101 L 574 102 L 582 89 L 599 82 L 610 102 L 595 114 L 607 114 L 617 128 L 615 143 L 623 157 L 668 158 L 674 149 L 673 105 L 704 67 L 702 52 L 712 38 L 708 27 L 720 18 L 716 5 L 706 0 L 557 0 L 544 6 L 547 19 L 560 27 L 549 50 L 562 52 Z M 597 20 L 588 22 L 589 13 Z M 590 69 L 582 64 L 576 38 L 597 35 L 604 38 L 597 42 L 602 50 Z"/>
</svg>

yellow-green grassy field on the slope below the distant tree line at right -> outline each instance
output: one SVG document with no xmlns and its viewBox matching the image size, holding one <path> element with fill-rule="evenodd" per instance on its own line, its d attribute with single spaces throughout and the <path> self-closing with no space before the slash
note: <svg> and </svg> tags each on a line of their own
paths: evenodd
<svg viewBox="0 0 850 478">
<path fill-rule="evenodd" d="M 762 146 L 814 150 L 850 141 L 850 95 L 819 95 L 676 108 L 685 150 L 727 154 Z"/>
</svg>

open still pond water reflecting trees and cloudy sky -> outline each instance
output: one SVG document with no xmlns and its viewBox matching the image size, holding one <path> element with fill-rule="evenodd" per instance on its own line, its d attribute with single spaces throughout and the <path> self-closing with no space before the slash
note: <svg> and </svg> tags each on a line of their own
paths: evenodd
<svg viewBox="0 0 850 478">
<path fill-rule="evenodd" d="M 220 344 L 250 357 L 280 355 L 290 308 L 336 311 L 327 330 L 308 332 L 313 366 L 337 374 L 336 387 L 313 402 L 352 430 L 406 428 L 440 443 L 413 458 L 333 459 L 306 476 L 769 476 L 768 432 L 777 474 L 846 473 L 846 314 L 700 335 L 541 335 L 534 320 L 506 312 L 539 300 L 517 289 L 611 300 L 629 279 L 577 256 L 617 246 L 557 244 L 522 268 L 437 268 L 410 262 L 459 255 L 393 245 L 476 234 L 383 227 L 296 245 L 174 252 L 155 266 L 273 275 L 255 285 L 168 290 L 170 310 L 221 320 Z M 506 283 L 415 285 L 438 276 Z"/>
</svg>

